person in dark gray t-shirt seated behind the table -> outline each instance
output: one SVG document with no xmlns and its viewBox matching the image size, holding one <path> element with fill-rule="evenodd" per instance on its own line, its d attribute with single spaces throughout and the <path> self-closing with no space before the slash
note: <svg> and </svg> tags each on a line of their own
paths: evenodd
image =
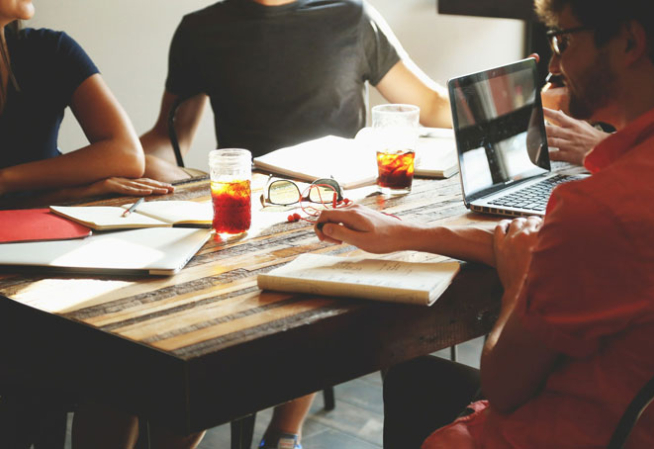
<svg viewBox="0 0 654 449">
<path fill-rule="evenodd" d="M 260 156 L 329 134 L 354 137 L 366 122 L 366 82 L 392 103 L 419 106 L 423 125 L 451 126 L 446 91 L 362 0 L 223 0 L 188 14 L 170 46 L 159 118 L 141 137 L 146 175 L 188 177 L 168 138 L 178 99 L 185 99 L 175 122 L 183 154 L 209 98 L 218 147 Z M 262 447 L 300 448 L 312 400 L 277 407 Z"/>
</svg>

